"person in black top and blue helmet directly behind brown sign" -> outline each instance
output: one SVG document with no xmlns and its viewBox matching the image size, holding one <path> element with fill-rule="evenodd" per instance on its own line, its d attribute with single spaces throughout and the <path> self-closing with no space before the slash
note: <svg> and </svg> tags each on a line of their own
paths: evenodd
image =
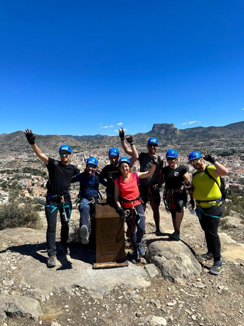
<svg viewBox="0 0 244 326">
<path fill-rule="evenodd" d="M 133 138 L 130 136 L 127 138 L 133 143 Z M 134 143 L 133 143 L 134 144 Z M 133 145 L 132 145 L 133 147 Z M 137 154 L 137 151 L 136 151 Z M 106 165 L 101 171 L 101 177 L 107 180 L 106 186 L 106 204 L 116 209 L 116 204 L 114 200 L 114 180 L 120 175 L 120 171 L 118 168 L 118 159 L 119 159 L 119 150 L 116 147 L 112 147 L 108 151 L 108 157 L 110 160 L 110 164 Z M 131 165 L 137 160 L 138 154 L 136 157 L 131 157 Z"/>
</svg>

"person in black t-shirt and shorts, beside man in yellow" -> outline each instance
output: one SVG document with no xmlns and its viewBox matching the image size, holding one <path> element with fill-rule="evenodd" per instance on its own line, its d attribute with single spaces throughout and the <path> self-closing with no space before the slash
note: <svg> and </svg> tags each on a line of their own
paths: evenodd
<svg viewBox="0 0 244 326">
<path fill-rule="evenodd" d="M 162 170 L 163 183 L 165 182 L 164 203 L 167 211 L 172 216 L 174 232 L 170 237 L 174 240 L 179 240 L 184 206 L 187 207 L 187 191 L 184 185 L 189 186 L 191 184 L 186 167 L 178 165 L 177 159 L 178 152 L 175 149 L 169 149 L 166 152 L 168 166 Z"/>
</svg>

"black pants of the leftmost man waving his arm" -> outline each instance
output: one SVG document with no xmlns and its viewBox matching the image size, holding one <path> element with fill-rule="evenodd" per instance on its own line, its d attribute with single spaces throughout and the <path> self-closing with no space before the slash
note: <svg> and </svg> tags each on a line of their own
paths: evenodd
<svg viewBox="0 0 244 326">
<path fill-rule="evenodd" d="M 65 211 L 67 218 L 70 219 L 70 214 L 72 210 L 72 203 L 70 197 L 65 197 Z M 61 232 L 60 238 L 61 243 L 64 247 L 67 247 L 67 241 L 69 238 L 69 222 L 65 222 L 62 220 L 62 213 L 63 213 L 63 204 L 60 198 L 49 198 L 46 197 L 46 205 L 45 205 L 45 213 L 47 218 L 47 254 L 48 256 L 56 255 L 56 246 L 55 246 L 55 239 L 56 239 L 56 226 L 57 226 L 57 211 L 60 214 L 60 221 L 61 221 Z"/>
</svg>

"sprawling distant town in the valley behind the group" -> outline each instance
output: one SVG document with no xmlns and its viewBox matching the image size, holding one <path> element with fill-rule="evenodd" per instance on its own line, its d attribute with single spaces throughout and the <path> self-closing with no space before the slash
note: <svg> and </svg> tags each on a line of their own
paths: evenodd
<svg viewBox="0 0 244 326">
<path fill-rule="evenodd" d="M 146 151 L 146 146 L 140 147 L 138 153 L 141 150 Z M 231 147 L 232 148 L 232 147 Z M 219 145 L 217 148 L 212 148 L 211 153 L 216 152 L 216 150 L 220 150 Z M 188 162 L 188 153 L 190 150 L 186 151 L 183 149 L 178 149 L 179 151 L 179 164 L 185 165 L 190 176 L 195 172 L 193 167 Z M 223 148 L 224 150 L 224 148 Z M 227 150 L 227 148 L 225 148 Z M 232 149 L 233 150 L 233 149 Z M 242 148 L 243 150 L 243 148 Z M 107 147 L 101 147 L 99 150 L 94 150 L 94 148 L 90 147 L 90 149 L 86 149 L 81 152 L 74 153 L 72 156 L 71 163 L 77 165 L 80 171 L 82 172 L 85 168 L 86 159 L 90 156 L 96 156 L 99 161 L 99 170 L 102 170 L 104 166 L 109 164 L 109 159 L 107 156 Z M 234 150 L 235 151 L 235 150 Z M 164 166 L 167 165 L 165 160 L 165 152 L 159 150 L 158 154 L 164 158 Z M 58 159 L 57 152 L 49 152 L 45 153 L 49 157 L 53 157 Z M 120 155 L 125 155 L 123 151 L 121 151 Z M 228 176 L 224 177 L 226 187 L 232 190 L 238 190 L 244 188 L 244 160 L 243 157 L 233 153 L 233 155 L 228 156 L 216 156 L 217 160 L 221 162 L 229 171 Z M 208 164 L 208 162 L 206 162 Z M 31 169 L 37 169 L 40 173 L 35 170 L 35 175 L 30 173 L 24 173 L 26 167 Z M 139 171 L 139 162 L 136 161 L 133 166 L 133 171 Z M 43 176 L 45 174 L 46 176 Z M 40 174 L 40 175 L 36 175 Z M 8 202 L 9 197 L 9 188 L 10 185 L 17 181 L 17 184 L 20 186 L 20 196 L 28 197 L 33 199 L 35 202 L 44 204 L 45 203 L 45 194 L 46 194 L 46 182 L 47 182 L 47 168 L 40 161 L 40 159 L 33 153 L 29 152 L 28 154 L 20 155 L 20 156 L 11 156 L 8 155 L 4 157 L 1 156 L 0 159 L 0 205 Z M 71 198 L 75 200 L 77 198 L 79 189 L 79 184 L 72 184 L 70 187 Z M 105 197 L 105 188 L 101 187 L 101 193 Z"/>
</svg>

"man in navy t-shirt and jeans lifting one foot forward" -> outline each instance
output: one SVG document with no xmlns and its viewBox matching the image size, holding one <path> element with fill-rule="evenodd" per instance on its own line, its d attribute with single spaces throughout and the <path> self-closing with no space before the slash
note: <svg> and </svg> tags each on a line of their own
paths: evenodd
<svg viewBox="0 0 244 326">
<path fill-rule="evenodd" d="M 98 160 L 96 157 L 89 157 L 86 160 L 85 171 L 77 174 L 73 182 L 80 182 L 79 191 L 79 212 L 80 212 L 80 237 L 81 243 L 87 244 L 92 228 L 89 227 L 89 218 L 93 215 L 94 203 L 98 202 L 99 184 L 106 186 L 106 181 L 101 177 L 97 170 Z M 93 221 L 91 221 L 93 222 Z M 92 225 L 93 223 L 91 223 Z"/>
</svg>

